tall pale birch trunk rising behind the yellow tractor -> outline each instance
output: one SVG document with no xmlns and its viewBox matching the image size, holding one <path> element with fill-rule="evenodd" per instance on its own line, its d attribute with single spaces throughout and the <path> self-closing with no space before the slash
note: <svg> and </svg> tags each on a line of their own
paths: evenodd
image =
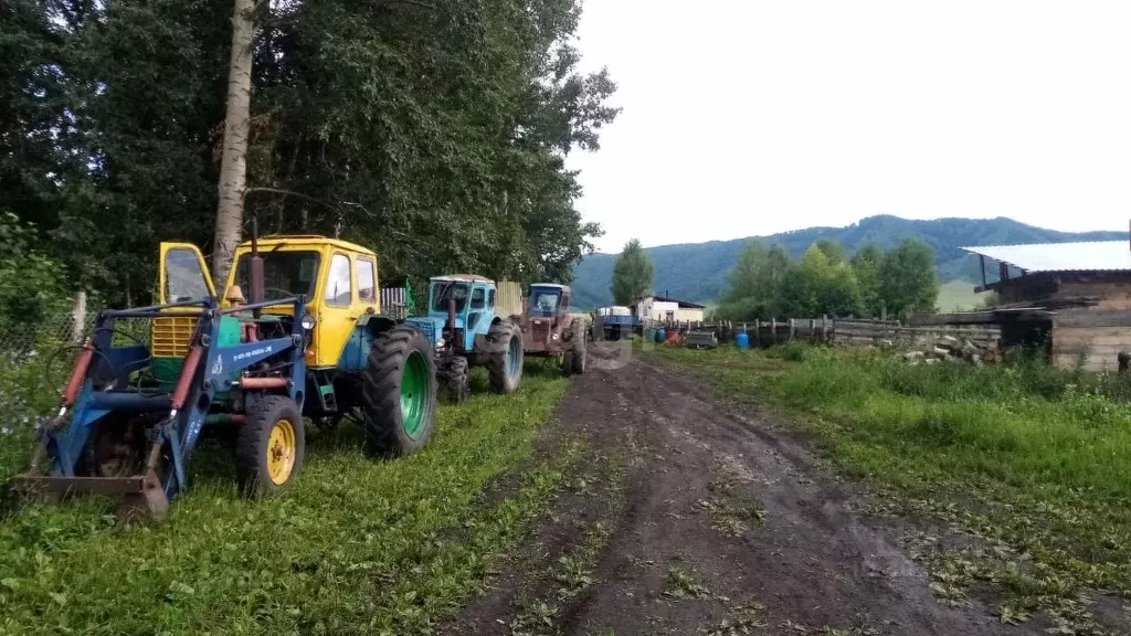
<svg viewBox="0 0 1131 636">
<path fill-rule="evenodd" d="M 234 0 L 232 60 L 227 74 L 227 112 L 219 164 L 219 205 L 211 272 L 216 291 L 224 293 L 232 253 L 243 231 L 243 191 L 248 175 L 248 137 L 251 123 L 251 51 L 256 37 L 254 0 Z"/>
</svg>

